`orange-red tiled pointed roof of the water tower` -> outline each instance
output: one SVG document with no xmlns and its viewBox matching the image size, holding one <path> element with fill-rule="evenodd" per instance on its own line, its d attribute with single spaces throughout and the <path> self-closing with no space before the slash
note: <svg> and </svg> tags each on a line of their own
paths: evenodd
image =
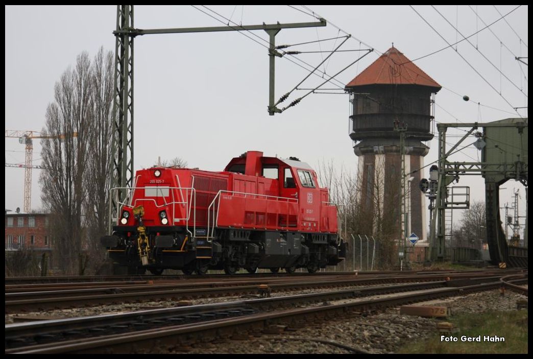
<svg viewBox="0 0 533 359">
<path fill-rule="evenodd" d="M 379 59 L 350 81 L 346 87 L 374 84 L 422 85 L 435 87 L 438 89 L 437 91 L 441 89 L 441 86 L 434 79 L 395 47 L 387 50 Z"/>
</svg>

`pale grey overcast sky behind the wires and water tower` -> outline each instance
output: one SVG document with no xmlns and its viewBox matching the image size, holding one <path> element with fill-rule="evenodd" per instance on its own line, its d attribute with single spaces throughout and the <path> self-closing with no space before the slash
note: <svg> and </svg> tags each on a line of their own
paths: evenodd
<svg viewBox="0 0 533 359">
<path fill-rule="evenodd" d="M 461 34 L 470 36 L 485 27 L 482 21 L 488 25 L 501 17 L 498 11 L 503 15 L 518 5 L 498 5 L 497 9 L 489 5 L 416 5 L 414 10 L 407 5 L 293 6 L 219 5 L 207 9 L 198 5 L 216 18 L 222 19 L 214 12 L 243 25 L 317 21 L 309 14 L 314 11 L 328 21 L 327 27 L 281 30 L 277 44 L 348 33 L 353 38 L 341 50 L 374 49 L 338 75 L 338 82 L 324 86 L 328 89 L 342 88 L 392 43 L 415 60 L 442 49 L 447 42 L 461 40 Z M 517 113 L 513 107 L 527 106 L 528 67 L 515 57 L 528 56 L 528 7 L 519 7 L 505 19 L 490 26 L 494 34 L 484 29 L 469 38 L 492 65 L 466 41 L 457 45 L 457 51 L 454 46 L 415 61 L 443 86 L 436 97 L 437 121 L 490 122 L 527 117 L 527 109 L 518 109 Z M 141 29 L 223 26 L 185 5 L 136 5 L 134 21 L 135 27 Z M 100 46 L 114 51 L 116 6 L 6 6 L 5 22 L 5 129 L 41 131 L 46 107 L 53 101 L 54 83 L 74 65 L 76 56 L 87 51 L 93 58 Z M 246 150 L 261 150 L 266 156 L 296 156 L 314 167 L 323 159 L 333 159 L 337 166 L 356 171 L 357 157 L 348 137 L 348 95 L 311 94 L 285 113 L 269 116 L 266 42 L 255 35 L 268 38 L 264 31 L 247 33 L 261 44 L 233 31 L 135 38 L 135 169 L 151 166 L 158 156 L 178 156 L 191 167 L 221 171 L 232 157 Z M 288 50 L 326 51 L 339 43 L 340 40 L 327 41 Z M 298 59 L 314 67 L 326 55 L 307 53 L 298 55 Z M 320 70 L 333 75 L 359 55 L 360 52 L 335 53 Z M 276 99 L 308 73 L 293 62 L 277 58 Z M 321 77 L 311 76 L 301 87 L 316 87 L 322 81 Z M 295 91 L 286 103 L 304 93 Z M 470 101 L 463 101 L 463 95 L 468 95 Z M 450 137 L 449 143 L 455 140 L 458 138 Z M 24 163 L 24 147 L 17 139 L 5 139 L 5 149 L 6 163 Z M 41 162 L 40 149 L 40 143 L 34 141 L 34 164 Z M 471 147 L 451 160 L 472 161 L 478 156 L 479 152 Z M 431 141 L 425 163 L 435 159 L 437 138 Z M 5 168 L 6 209 L 23 207 L 23 172 Z M 39 170 L 33 170 L 32 209 L 42 207 L 38 175 Z M 424 177 L 427 175 L 425 172 Z M 484 201 L 481 177 L 463 177 L 459 185 L 472 186 L 472 200 Z M 509 181 L 502 187 L 507 188 L 500 192 L 502 206 L 512 202 L 513 189 L 520 189 L 520 212 L 524 214 L 523 186 Z"/>
</svg>

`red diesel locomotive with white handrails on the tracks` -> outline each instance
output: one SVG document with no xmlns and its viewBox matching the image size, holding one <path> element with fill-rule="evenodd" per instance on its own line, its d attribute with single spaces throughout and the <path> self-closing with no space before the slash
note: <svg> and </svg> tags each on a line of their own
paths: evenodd
<svg viewBox="0 0 533 359">
<path fill-rule="evenodd" d="M 223 172 L 152 167 L 136 173 L 133 188 L 112 192 L 126 200 L 112 216 L 113 234 L 101 242 L 130 274 L 314 273 L 345 256 L 336 205 L 311 167 L 294 157 L 248 151 Z"/>
</svg>

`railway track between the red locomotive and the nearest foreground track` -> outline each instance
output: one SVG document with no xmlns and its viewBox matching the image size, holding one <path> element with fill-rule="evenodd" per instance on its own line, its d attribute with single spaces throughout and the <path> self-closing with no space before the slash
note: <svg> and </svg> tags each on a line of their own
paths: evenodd
<svg viewBox="0 0 533 359">
<path fill-rule="evenodd" d="M 492 272 L 485 273 L 449 273 L 444 274 L 411 274 L 396 276 L 352 276 L 339 279 L 337 276 L 324 277 L 273 277 L 253 278 L 243 277 L 238 281 L 232 280 L 208 283 L 205 280 L 190 283 L 167 284 L 134 284 L 134 285 L 91 285 L 89 288 L 69 289 L 61 286 L 62 290 L 34 290 L 25 285 L 22 292 L 15 292 L 15 288 L 7 288 L 5 293 L 5 313 L 35 312 L 50 309 L 64 309 L 73 307 L 96 306 L 142 302 L 150 300 L 188 300 L 193 298 L 240 296 L 243 294 L 257 294 L 260 285 L 268 285 L 273 292 L 292 291 L 302 289 L 342 288 L 345 286 L 376 285 L 385 283 L 431 282 L 442 281 L 446 278 L 477 279 L 498 278 Z M 104 282 L 105 283 L 105 282 Z M 115 282 L 116 283 L 116 282 Z M 38 285 L 39 286 L 39 285 Z M 70 287 L 71 288 L 71 287 Z M 44 289 L 38 287 L 38 289 Z M 7 290 L 11 290 L 7 292 Z"/>
</svg>

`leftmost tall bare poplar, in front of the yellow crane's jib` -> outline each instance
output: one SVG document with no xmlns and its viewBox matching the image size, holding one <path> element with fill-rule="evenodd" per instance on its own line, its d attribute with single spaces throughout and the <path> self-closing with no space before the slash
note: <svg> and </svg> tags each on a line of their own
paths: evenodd
<svg viewBox="0 0 533 359">
<path fill-rule="evenodd" d="M 93 123 L 91 61 L 78 55 L 74 69 L 67 69 L 55 83 L 55 102 L 46 109 L 42 140 L 43 166 L 39 183 L 46 209 L 56 214 L 51 226 L 59 265 L 72 273 L 82 252 L 82 207 L 87 195 L 83 177 L 90 157 Z"/>
</svg>

